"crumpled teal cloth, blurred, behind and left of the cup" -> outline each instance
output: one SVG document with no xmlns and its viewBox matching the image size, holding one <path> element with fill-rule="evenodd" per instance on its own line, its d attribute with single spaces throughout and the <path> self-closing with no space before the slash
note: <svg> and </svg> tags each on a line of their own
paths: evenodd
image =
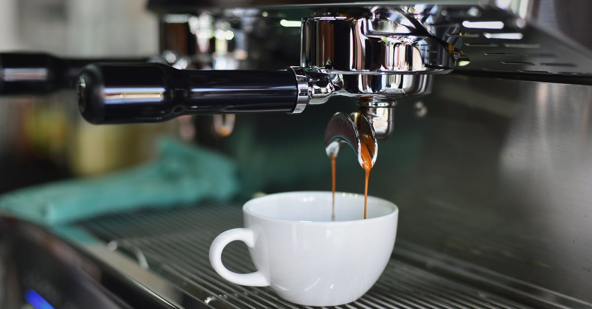
<svg viewBox="0 0 592 309">
<path fill-rule="evenodd" d="M 143 207 L 202 199 L 228 200 L 239 191 L 234 162 L 172 139 L 136 168 L 91 179 L 18 189 L 0 197 L 0 211 L 46 226 Z"/>
</svg>

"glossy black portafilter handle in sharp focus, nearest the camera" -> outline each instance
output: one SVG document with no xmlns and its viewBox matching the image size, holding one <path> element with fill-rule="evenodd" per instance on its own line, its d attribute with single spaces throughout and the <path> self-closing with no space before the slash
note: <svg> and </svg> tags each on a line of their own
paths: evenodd
<svg viewBox="0 0 592 309">
<path fill-rule="evenodd" d="M 82 116 L 94 124 L 156 123 L 180 115 L 292 112 L 294 71 L 178 70 L 159 63 L 89 65 L 78 81 Z"/>
</svg>

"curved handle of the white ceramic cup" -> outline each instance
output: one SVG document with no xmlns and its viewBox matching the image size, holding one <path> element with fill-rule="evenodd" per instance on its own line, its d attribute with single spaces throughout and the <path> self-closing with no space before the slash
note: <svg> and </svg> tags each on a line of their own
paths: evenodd
<svg viewBox="0 0 592 309">
<path fill-rule="evenodd" d="M 255 245 L 255 235 L 249 228 L 233 228 L 227 230 L 224 233 L 218 235 L 210 246 L 210 263 L 214 268 L 214 271 L 222 278 L 240 285 L 249 285 L 251 287 L 267 287 L 269 285 L 269 279 L 263 275 L 262 271 L 256 271 L 252 273 L 236 273 L 229 271 L 222 263 L 222 250 L 230 242 L 234 240 L 240 240 L 245 243 L 249 248 Z"/>
</svg>

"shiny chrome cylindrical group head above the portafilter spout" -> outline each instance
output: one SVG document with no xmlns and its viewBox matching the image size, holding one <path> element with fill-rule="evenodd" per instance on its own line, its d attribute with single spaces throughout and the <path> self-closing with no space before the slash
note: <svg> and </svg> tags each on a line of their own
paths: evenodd
<svg viewBox="0 0 592 309">
<path fill-rule="evenodd" d="M 448 53 L 448 46 L 431 36 L 419 22 L 408 20 L 398 9 L 358 14 L 361 16 L 305 19 L 301 30 L 301 65 L 342 74 L 453 69 L 454 59 Z"/>
</svg>

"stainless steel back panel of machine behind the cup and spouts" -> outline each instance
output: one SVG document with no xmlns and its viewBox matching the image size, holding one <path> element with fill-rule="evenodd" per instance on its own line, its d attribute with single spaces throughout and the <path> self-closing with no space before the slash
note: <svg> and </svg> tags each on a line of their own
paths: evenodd
<svg viewBox="0 0 592 309">
<path fill-rule="evenodd" d="M 400 208 L 398 240 L 592 302 L 592 86 L 434 78 L 432 94 L 421 99 L 423 117 L 414 117 L 416 100 L 398 101 L 394 133 L 380 143 L 369 180 L 369 194 Z M 310 124 L 308 134 L 302 127 L 282 132 L 289 147 L 278 146 L 277 135 L 253 141 L 253 149 L 265 150 L 259 160 L 268 167 L 244 170 L 279 179 L 286 174 L 272 170 L 282 167 L 292 177 L 282 186 L 259 182 L 258 190 L 330 188 L 330 164 L 314 150 L 320 140 L 299 136 L 323 130 L 312 124 L 332 112 L 326 105 L 304 120 L 278 120 Z M 306 159 L 269 166 L 298 147 L 308 150 Z M 337 189 L 363 193 L 363 175 L 348 155 L 337 162 Z M 310 169 L 298 173 L 291 165 Z"/>
</svg>

